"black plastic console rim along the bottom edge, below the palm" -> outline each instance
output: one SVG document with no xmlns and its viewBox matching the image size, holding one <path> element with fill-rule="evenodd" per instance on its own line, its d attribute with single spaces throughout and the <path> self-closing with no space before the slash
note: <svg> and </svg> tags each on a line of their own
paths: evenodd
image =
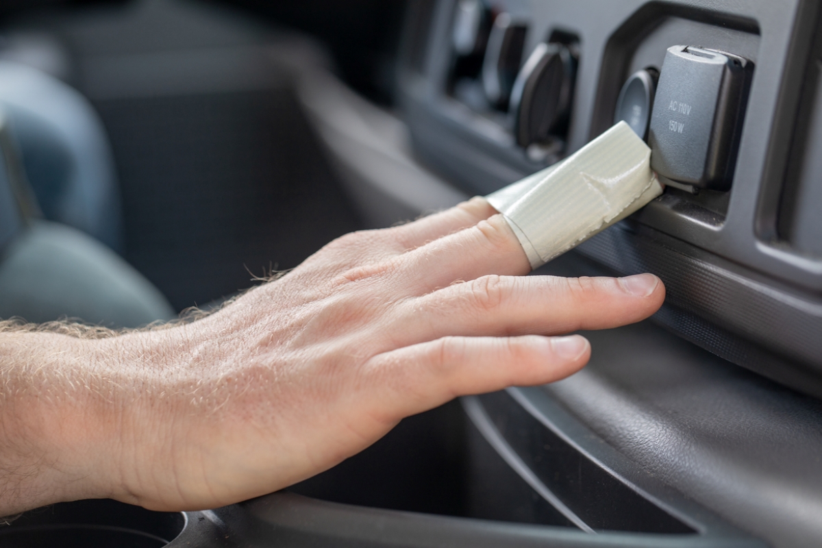
<svg viewBox="0 0 822 548">
<path fill-rule="evenodd" d="M 242 504 L 252 528 L 246 546 L 351 548 L 406 546 L 434 548 L 752 548 L 764 546 L 744 536 L 670 536 L 613 532 L 594 535 L 572 527 L 445 518 L 336 504 L 276 493 Z"/>
</svg>

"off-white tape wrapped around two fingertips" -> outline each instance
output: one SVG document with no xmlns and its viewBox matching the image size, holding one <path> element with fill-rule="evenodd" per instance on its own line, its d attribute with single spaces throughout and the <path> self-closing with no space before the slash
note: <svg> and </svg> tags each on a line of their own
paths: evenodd
<svg viewBox="0 0 822 548">
<path fill-rule="evenodd" d="M 536 269 L 662 194 L 650 158 L 648 145 L 619 122 L 563 162 L 486 199 Z"/>
</svg>

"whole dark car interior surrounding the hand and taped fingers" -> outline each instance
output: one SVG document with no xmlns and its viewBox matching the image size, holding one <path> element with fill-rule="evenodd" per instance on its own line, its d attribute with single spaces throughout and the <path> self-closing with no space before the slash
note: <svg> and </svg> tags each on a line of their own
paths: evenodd
<svg viewBox="0 0 822 548">
<path fill-rule="evenodd" d="M 820 30 L 818 0 L 2 2 L 3 319 L 207 311 L 620 121 L 663 195 L 534 273 L 667 298 L 288 489 L 53 504 L 0 546 L 822 546 Z"/>
</svg>

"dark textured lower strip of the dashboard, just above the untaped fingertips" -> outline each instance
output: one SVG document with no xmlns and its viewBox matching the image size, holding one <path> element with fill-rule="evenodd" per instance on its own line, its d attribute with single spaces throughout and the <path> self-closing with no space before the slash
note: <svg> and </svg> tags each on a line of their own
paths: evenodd
<svg viewBox="0 0 822 548">
<path fill-rule="evenodd" d="M 822 397 L 822 303 L 635 228 L 613 227 L 577 251 L 618 274 L 657 274 L 667 288 L 666 308 L 656 316 L 664 324 L 729 361 Z"/>
</svg>

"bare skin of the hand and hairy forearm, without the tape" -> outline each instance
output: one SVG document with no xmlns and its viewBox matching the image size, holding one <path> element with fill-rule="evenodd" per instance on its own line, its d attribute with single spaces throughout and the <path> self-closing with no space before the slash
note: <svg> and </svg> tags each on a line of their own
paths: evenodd
<svg viewBox="0 0 822 548">
<path fill-rule="evenodd" d="M 0 515 L 209 509 L 322 472 L 463 394 L 571 375 L 576 329 L 643 320 L 652 274 L 528 276 L 475 198 L 331 242 L 213 315 L 107 338 L 0 333 Z"/>
</svg>

